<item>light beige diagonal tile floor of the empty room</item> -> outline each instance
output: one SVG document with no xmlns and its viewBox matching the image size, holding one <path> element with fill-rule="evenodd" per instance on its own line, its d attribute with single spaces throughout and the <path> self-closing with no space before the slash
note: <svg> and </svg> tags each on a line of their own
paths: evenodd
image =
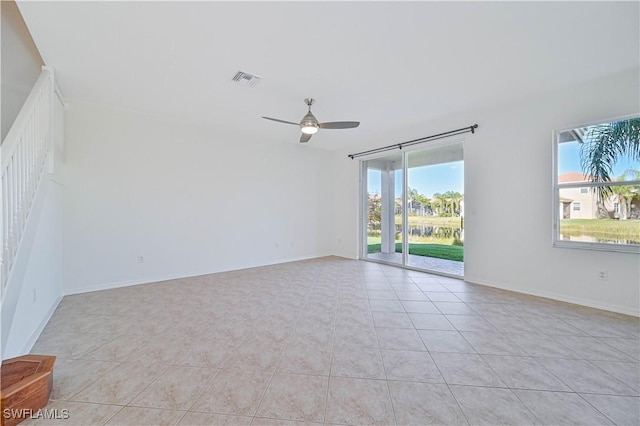
<svg viewBox="0 0 640 426">
<path fill-rule="evenodd" d="M 637 318 L 336 257 L 65 297 L 24 424 L 640 422 Z M 291 422 L 288 422 L 291 421 Z"/>
</svg>

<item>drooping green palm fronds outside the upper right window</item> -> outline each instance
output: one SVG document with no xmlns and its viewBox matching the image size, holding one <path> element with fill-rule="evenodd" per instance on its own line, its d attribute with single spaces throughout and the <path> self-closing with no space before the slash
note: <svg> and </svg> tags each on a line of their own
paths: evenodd
<svg viewBox="0 0 640 426">
<path fill-rule="evenodd" d="M 623 156 L 640 161 L 640 118 L 591 126 L 580 148 L 582 172 L 592 182 L 611 182 L 613 166 Z M 611 187 L 598 187 L 600 199 L 611 194 Z"/>
</svg>

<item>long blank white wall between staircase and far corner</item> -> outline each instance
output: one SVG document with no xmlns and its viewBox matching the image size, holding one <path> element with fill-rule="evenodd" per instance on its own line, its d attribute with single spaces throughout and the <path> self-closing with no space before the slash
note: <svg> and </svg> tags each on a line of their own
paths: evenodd
<svg viewBox="0 0 640 426">
<path fill-rule="evenodd" d="M 330 254 L 330 153 L 68 107 L 65 294 Z"/>
</svg>

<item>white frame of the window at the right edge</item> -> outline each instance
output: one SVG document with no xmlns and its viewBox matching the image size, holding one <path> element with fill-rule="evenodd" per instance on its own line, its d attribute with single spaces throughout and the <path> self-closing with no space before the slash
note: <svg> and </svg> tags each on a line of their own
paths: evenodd
<svg viewBox="0 0 640 426">
<path fill-rule="evenodd" d="M 573 129 L 582 127 L 595 126 L 603 123 L 611 123 L 615 121 L 628 120 L 631 118 L 639 118 L 640 114 L 631 114 L 622 117 L 593 121 L 586 124 L 570 126 L 552 132 L 552 246 L 557 248 L 570 248 L 581 250 L 598 250 L 608 252 L 622 252 L 640 254 L 640 244 L 609 244 L 609 243 L 593 243 L 583 241 L 566 241 L 560 238 L 560 189 L 562 188 L 597 188 L 601 186 L 624 186 L 624 185 L 640 185 L 640 180 L 630 180 L 624 182 L 570 182 L 558 183 L 558 142 L 559 135 Z M 573 209 L 573 203 L 571 208 Z M 573 210 L 572 210 L 573 211 Z"/>
</svg>

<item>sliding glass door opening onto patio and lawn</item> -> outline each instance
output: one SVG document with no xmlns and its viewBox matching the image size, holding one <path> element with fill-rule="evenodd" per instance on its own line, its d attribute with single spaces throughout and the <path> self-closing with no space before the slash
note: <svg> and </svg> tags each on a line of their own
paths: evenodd
<svg viewBox="0 0 640 426">
<path fill-rule="evenodd" d="M 394 152 L 362 165 L 362 257 L 463 276 L 463 143 Z"/>
</svg>

